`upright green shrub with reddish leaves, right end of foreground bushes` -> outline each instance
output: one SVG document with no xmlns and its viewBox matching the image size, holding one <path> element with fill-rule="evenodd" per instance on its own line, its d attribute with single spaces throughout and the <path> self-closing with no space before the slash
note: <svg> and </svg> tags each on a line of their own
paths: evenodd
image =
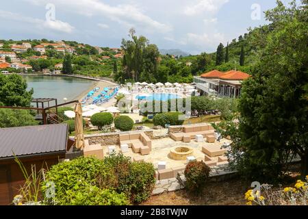
<svg viewBox="0 0 308 219">
<path fill-rule="evenodd" d="M 155 186 L 155 169 L 153 164 L 133 162 L 129 166 L 129 183 L 131 202 L 141 203 L 148 199 Z"/>
</svg>

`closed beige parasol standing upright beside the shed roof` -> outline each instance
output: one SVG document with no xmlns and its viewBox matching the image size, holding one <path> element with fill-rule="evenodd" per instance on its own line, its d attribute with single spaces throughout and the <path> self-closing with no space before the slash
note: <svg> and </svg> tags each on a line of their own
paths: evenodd
<svg viewBox="0 0 308 219">
<path fill-rule="evenodd" d="M 84 148 L 84 127 L 82 124 L 82 108 L 81 103 L 75 105 L 75 146 L 77 149 Z"/>
</svg>

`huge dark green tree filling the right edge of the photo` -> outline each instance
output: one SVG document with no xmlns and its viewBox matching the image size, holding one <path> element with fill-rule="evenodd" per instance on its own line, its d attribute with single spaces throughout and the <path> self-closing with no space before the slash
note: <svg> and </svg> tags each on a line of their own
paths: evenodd
<svg viewBox="0 0 308 219">
<path fill-rule="evenodd" d="M 308 16 L 302 3 L 277 1 L 266 12 L 271 31 L 253 77 L 243 83 L 239 125 L 224 126 L 233 140 L 231 165 L 248 179 L 277 179 L 294 155 L 302 177 L 308 174 Z"/>
</svg>

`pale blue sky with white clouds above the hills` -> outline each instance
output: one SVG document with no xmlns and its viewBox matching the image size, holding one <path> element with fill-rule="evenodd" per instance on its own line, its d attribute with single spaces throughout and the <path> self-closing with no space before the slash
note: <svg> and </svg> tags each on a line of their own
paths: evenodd
<svg viewBox="0 0 308 219">
<path fill-rule="evenodd" d="M 120 47 L 133 27 L 159 49 L 211 53 L 248 27 L 266 24 L 264 11 L 275 5 L 275 0 L 10 0 L 0 5 L 0 39 Z"/>
</svg>

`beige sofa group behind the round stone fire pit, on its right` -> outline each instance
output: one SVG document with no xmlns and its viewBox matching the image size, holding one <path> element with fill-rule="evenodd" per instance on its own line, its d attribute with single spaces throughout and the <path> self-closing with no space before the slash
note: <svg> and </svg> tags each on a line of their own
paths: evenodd
<svg viewBox="0 0 308 219">
<path fill-rule="evenodd" d="M 214 137 L 214 128 L 211 125 L 188 125 L 184 127 L 184 132 L 178 133 L 170 133 L 170 138 L 175 140 L 176 142 L 190 142 L 192 139 L 197 139 L 199 142 L 203 142 L 201 140 L 201 136 L 207 139 L 207 142 L 213 143 L 215 142 Z"/>
</svg>

